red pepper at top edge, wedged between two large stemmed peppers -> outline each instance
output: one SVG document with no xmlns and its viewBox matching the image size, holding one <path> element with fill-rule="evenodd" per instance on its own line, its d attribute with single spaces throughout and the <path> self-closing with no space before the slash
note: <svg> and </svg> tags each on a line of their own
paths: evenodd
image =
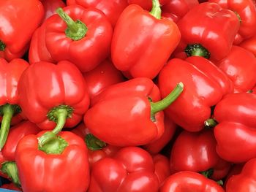
<svg viewBox="0 0 256 192">
<path fill-rule="evenodd" d="M 127 0 L 67 0 L 67 5 L 79 4 L 84 8 L 97 8 L 104 12 L 113 27 L 121 12 L 128 6 Z"/>
</svg>

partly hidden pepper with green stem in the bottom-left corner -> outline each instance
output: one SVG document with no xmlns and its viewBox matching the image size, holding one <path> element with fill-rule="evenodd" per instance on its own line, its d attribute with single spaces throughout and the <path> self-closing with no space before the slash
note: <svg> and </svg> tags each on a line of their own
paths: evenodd
<svg viewBox="0 0 256 192">
<path fill-rule="evenodd" d="M 29 134 L 37 134 L 40 129 L 36 124 L 29 121 L 23 121 L 10 130 L 9 137 L 3 150 L 0 152 L 0 175 L 10 178 L 15 185 L 20 186 L 18 172 L 15 165 L 15 152 L 20 139 Z"/>
</svg>

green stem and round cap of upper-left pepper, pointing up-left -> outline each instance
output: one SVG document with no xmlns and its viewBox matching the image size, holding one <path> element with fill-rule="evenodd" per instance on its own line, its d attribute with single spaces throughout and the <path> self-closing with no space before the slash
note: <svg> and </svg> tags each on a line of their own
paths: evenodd
<svg viewBox="0 0 256 192">
<path fill-rule="evenodd" d="M 67 29 L 65 30 L 65 34 L 67 37 L 74 41 L 78 41 L 86 36 L 88 28 L 82 21 L 72 20 L 72 18 L 70 18 L 69 15 L 67 15 L 67 13 L 64 12 L 62 8 L 56 9 L 56 12 L 61 17 L 61 19 L 64 20 L 65 23 L 67 23 Z"/>
</svg>

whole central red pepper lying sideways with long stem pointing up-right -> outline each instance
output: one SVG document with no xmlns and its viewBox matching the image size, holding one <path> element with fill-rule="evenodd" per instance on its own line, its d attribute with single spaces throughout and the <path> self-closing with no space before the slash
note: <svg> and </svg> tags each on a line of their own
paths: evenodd
<svg viewBox="0 0 256 192">
<path fill-rule="evenodd" d="M 91 134 L 110 145 L 146 145 L 162 136 L 165 130 L 162 110 L 182 91 L 180 82 L 172 93 L 159 101 L 159 89 L 148 78 L 120 82 L 94 99 L 84 122 Z"/>
</svg>

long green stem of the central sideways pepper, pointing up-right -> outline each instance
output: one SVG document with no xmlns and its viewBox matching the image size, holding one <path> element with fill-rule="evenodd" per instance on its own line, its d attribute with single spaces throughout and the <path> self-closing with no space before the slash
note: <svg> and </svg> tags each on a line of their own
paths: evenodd
<svg viewBox="0 0 256 192">
<path fill-rule="evenodd" d="M 164 99 L 157 101 L 157 102 L 150 102 L 151 103 L 151 119 L 154 120 L 154 115 L 162 110 L 165 110 L 170 104 L 175 101 L 178 96 L 181 95 L 184 89 L 184 85 L 182 82 L 178 82 L 176 88 L 173 89 L 172 92 L 169 93 Z"/>
</svg>

